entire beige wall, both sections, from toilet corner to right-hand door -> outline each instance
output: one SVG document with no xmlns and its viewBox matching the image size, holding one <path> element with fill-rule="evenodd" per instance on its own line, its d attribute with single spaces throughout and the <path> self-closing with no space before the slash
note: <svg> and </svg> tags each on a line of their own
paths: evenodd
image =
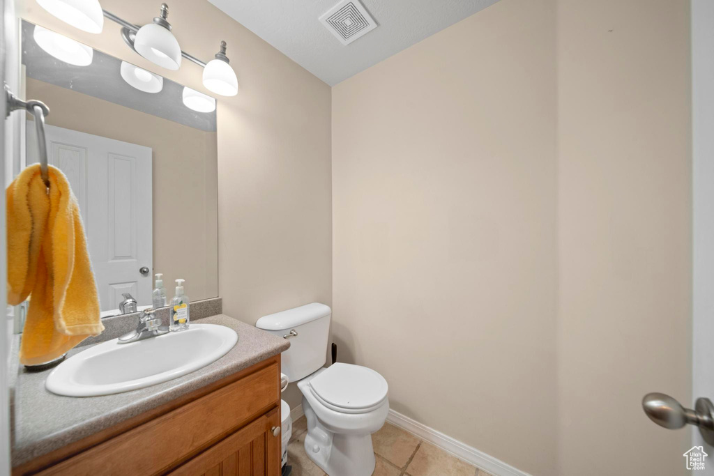
<svg viewBox="0 0 714 476">
<path fill-rule="evenodd" d="M 688 35 L 501 0 L 333 88 L 333 330 L 394 410 L 537 475 L 685 472 L 640 400 L 691 402 Z"/>
</svg>

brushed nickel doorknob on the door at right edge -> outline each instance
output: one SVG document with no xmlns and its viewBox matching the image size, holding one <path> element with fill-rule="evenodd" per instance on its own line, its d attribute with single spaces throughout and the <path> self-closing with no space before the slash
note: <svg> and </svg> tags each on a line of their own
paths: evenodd
<svg viewBox="0 0 714 476">
<path fill-rule="evenodd" d="M 698 398 L 695 409 L 683 407 L 664 393 L 648 393 L 642 399 L 645 414 L 661 427 L 677 430 L 687 424 L 699 427 L 705 442 L 714 445 L 714 404 L 708 398 Z"/>
</svg>

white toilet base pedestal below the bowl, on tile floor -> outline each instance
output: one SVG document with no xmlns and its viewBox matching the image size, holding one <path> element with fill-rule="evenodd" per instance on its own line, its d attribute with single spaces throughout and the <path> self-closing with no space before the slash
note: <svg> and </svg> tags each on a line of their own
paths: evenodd
<svg viewBox="0 0 714 476">
<path fill-rule="evenodd" d="M 376 460 L 372 434 L 341 434 L 326 429 L 303 397 L 308 431 L 305 452 L 329 476 L 370 476 Z"/>
</svg>

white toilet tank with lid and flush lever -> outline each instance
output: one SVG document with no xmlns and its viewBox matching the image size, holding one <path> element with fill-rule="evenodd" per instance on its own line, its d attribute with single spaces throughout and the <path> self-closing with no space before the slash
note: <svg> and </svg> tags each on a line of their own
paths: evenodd
<svg viewBox="0 0 714 476">
<path fill-rule="evenodd" d="M 330 306 L 312 303 L 258 319 L 257 328 L 290 340 L 290 348 L 281 355 L 281 372 L 291 382 L 325 365 L 331 315 Z M 297 335 L 291 335 L 291 330 Z"/>
</svg>

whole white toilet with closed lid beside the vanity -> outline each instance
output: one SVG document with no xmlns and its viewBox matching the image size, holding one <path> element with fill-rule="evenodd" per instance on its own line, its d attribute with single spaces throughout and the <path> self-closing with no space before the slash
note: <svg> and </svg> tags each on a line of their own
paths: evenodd
<svg viewBox="0 0 714 476">
<path fill-rule="evenodd" d="M 388 385 L 360 365 L 323 368 L 331 315 L 327 305 L 312 303 L 263 316 L 256 326 L 290 339 L 282 372 L 303 393 L 308 457 L 330 476 L 368 476 L 375 465 L 371 435 L 389 412 Z"/>
</svg>

